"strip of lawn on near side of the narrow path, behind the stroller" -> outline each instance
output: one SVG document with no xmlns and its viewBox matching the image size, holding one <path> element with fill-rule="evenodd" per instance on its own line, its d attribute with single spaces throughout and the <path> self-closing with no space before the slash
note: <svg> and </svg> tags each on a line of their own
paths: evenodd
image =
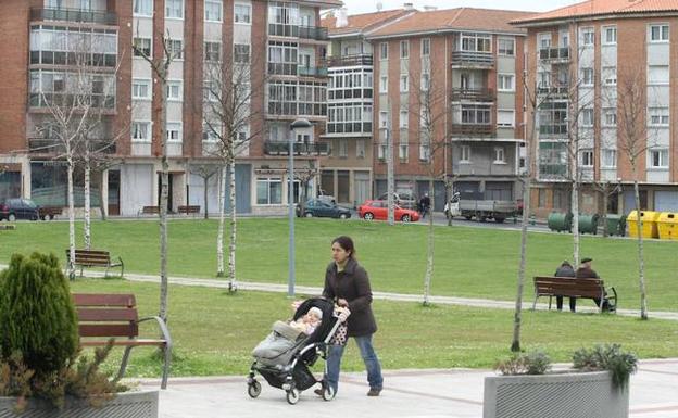
<svg viewBox="0 0 678 418">
<path fill-rule="evenodd" d="M 135 293 L 143 315 L 158 309 L 159 287 L 120 279 L 78 279 L 74 292 Z M 379 331 L 375 345 L 382 365 L 399 368 L 489 368 L 510 354 L 513 311 L 480 309 L 418 303 L 375 301 Z M 219 289 L 171 288 L 168 324 L 177 359 L 173 376 L 246 375 L 250 352 L 263 340 L 276 319 L 291 316 L 290 300 L 282 294 Z M 617 315 L 525 311 L 523 347 L 543 349 L 556 362 L 569 362 L 572 353 L 595 343 L 617 342 L 643 358 L 678 353 L 678 326 L 674 321 L 641 321 Z M 142 335 L 154 337 L 152 324 Z M 135 349 L 128 376 L 159 377 L 161 362 L 151 349 Z M 109 362 L 113 370 L 121 351 Z M 349 343 L 344 370 L 362 370 L 357 347 Z"/>
</svg>

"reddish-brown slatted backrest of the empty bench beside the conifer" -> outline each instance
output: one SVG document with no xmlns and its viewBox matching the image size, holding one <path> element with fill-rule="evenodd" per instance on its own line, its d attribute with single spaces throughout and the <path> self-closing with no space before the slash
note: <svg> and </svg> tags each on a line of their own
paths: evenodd
<svg viewBox="0 0 678 418">
<path fill-rule="evenodd" d="M 74 293 L 73 302 L 80 337 L 139 335 L 139 315 L 134 294 Z"/>
</svg>

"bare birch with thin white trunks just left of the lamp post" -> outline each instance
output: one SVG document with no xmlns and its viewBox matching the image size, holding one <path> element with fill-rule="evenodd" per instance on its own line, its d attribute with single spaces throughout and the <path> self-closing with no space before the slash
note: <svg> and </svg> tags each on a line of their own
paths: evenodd
<svg viewBox="0 0 678 418">
<path fill-rule="evenodd" d="M 225 54 L 227 61 L 210 58 L 204 63 L 203 86 L 203 129 L 210 140 L 205 151 L 218 159 L 222 164 L 219 177 L 219 221 L 216 242 L 217 277 L 224 277 L 224 224 L 225 224 L 225 185 L 229 185 L 229 229 L 228 245 L 228 288 L 237 289 L 236 276 L 236 157 L 248 150 L 252 138 L 263 134 L 250 124 L 256 116 L 251 106 L 252 99 L 263 94 L 266 88 L 266 76 L 252 68 L 262 64 L 261 58 L 254 58 L 250 51 L 236 50 L 233 60 L 230 53 Z M 260 65 L 263 67 L 263 64 Z M 291 150 L 290 150 L 291 152 Z"/>
</svg>

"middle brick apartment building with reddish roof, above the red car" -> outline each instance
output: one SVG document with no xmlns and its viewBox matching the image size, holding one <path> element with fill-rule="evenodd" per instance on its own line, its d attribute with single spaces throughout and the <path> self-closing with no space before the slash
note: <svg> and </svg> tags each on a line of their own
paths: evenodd
<svg viewBox="0 0 678 418">
<path fill-rule="evenodd" d="M 437 211 L 444 204 L 441 178 L 474 199 L 519 199 L 527 33 L 510 22 L 523 16 L 429 8 L 367 34 L 375 51 L 375 195 L 387 189 L 390 140 L 395 191 L 431 192 L 434 174 Z"/>
</svg>

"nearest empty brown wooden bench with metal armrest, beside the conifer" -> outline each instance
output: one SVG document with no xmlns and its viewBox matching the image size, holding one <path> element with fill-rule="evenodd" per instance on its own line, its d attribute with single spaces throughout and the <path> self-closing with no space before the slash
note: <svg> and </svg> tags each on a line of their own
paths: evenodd
<svg viewBox="0 0 678 418">
<path fill-rule="evenodd" d="M 125 375 L 131 349 L 159 346 L 164 351 L 161 388 L 167 388 L 172 362 L 172 338 L 162 318 L 158 316 L 139 318 L 134 294 L 74 293 L 73 301 L 78 315 L 81 346 L 105 346 L 113 338 L 113 345 L 125 347 L 121 368 L 114 381 L 118 381 Z M 162 339 L 139 339 L 139 324 L 147 320 L 158 322 Z"/>
</svg>

